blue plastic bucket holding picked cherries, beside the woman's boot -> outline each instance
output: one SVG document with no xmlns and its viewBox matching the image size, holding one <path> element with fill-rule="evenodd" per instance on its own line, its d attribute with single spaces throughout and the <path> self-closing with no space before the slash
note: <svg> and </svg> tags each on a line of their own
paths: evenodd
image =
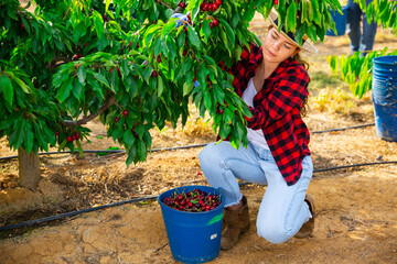
<svg viewBox="0 0 397 264">
<path fill-rule="evenodd" d="M 165 206 L 162 200 L 173 194 L 200 189 L 217 195 L 221 205 L 202 212 L 179 211 Z M 182 263 L 205 263 L 219 255 L 222 219 L 225 199 L 219 189 L 208 186 L 183 186 L 164 191 L 158 197 L 172 256 Z"/>
</svg>

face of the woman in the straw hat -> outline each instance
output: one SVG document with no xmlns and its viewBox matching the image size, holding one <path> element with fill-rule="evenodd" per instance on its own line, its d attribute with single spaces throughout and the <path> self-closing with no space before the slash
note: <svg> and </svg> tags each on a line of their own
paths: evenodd
<svg viewBox="0 0 397 264">
<path fill-rule="evenodd" d="M 299 47 L 275 28 L 269 30 L 262 48 L 265 62 L 277 64 L 299 52 Z"/>
</svg>

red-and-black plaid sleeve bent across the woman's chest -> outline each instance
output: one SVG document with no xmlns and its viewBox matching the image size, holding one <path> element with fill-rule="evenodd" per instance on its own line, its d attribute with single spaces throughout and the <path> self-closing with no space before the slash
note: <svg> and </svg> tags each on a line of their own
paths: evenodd
<svg viewBox="0 0 397 264">
<path fill-rule="evenodd" d="M 301 66 L 289 67 L 280 74 L 278 84 L 266 94 L 268 98 L 258 98 L 262 105 L 249 108 L 253 117 L 247 119 L 248 128 L 258 130 L 269 127 L 276 120 L 281 119 L 292 109 L 301 109 L 304 98 L 308 96 L 307 86 L 309 75 Z M 258 95 L 264 97 L 265 94 Z"/>
</svg>

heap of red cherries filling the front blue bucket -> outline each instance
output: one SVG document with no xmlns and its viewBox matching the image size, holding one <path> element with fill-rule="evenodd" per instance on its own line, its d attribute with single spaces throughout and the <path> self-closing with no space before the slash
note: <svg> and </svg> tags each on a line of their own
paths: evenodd
<svg viewBox="0 0 397 264">
<path fill-rule="evenodd" d="M 222 204 L 217 195 L 206 194 L 198 188 L 186 194 L 175 191 L 171 197 L 165 197 L 162 202 L 172 209 L 187 212 L 214 210 Z"/>
</svg>

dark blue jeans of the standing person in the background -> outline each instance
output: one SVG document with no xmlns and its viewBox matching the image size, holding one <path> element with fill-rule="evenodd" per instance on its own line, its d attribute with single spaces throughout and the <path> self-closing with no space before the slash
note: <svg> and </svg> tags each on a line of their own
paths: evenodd
<svg viewBox="0 0 397 264">
<path fill-rule="evenodd" d="M 373 0 L 366 0 L 368 6 Z M 363 31 L 360 21 L 363 20 Z M 347 1 L 347 35 L 351 40 L 352 54 L 361 51 L 362 56 L 374 47 L 377 24 L 372 20 L 368 23 L 366 14 L 361 10 L 358 3 L 353 0 Z"/>
</svg>

